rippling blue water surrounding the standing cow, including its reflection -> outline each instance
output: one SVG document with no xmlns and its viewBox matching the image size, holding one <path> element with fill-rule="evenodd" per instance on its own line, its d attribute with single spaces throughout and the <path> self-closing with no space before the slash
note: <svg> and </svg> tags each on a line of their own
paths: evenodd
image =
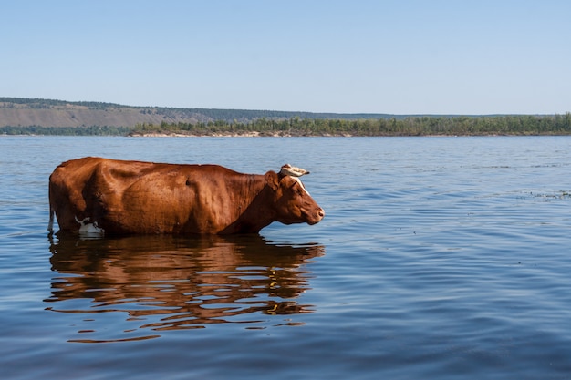
<svg viewBox="0 0 571 380">
<path fill-rule="evenodd" d="M 88 155 L 289 162 L 261 236 L 47 238 Z M 571 138 L 0 138 L 0 368 L 37 378 L 571 378 Z"/>
</svg>

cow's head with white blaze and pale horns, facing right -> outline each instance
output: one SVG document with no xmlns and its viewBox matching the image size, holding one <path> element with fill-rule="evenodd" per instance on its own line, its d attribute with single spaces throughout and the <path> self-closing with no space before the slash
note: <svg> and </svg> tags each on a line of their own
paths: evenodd
<svg viewBox="0 0 571 380">
<path fill-rule="evenodd" d="M 325 211 L 311 198 L 299 178 L 287 175 L 283 171 L 265 173 L 268 186 L 273 190 L 273 209 L 275 220 L 285 224 L 316 224 L 325 216 Z"/>
</svg>

